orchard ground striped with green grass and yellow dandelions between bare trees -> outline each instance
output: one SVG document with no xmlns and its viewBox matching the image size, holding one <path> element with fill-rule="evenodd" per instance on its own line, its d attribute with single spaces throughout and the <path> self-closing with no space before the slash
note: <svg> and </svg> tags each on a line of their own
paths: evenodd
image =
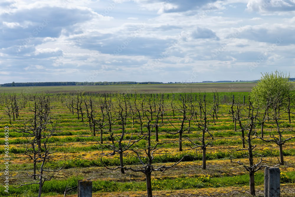
<svg viewBox="0 0 295 197">
<path fill-rule="evenodd" d="M 203 98 L 201 95 L 201 98 Z M 212 96 L 212 95 L 209 95 Z M 208 96 L 208 100 L 210 99 Z M 160 97 L 160 96 L 159 96 Z M 89 97 L 83 97 L 86 102 L 89 102 Z M 102 97 L 103 98 L 103 97 Z M 152 97 L 155 99 L 155 97 Z M 194 98 L 194 96 L 193 96 Z M 237 96 L 235 97 L 237 99 Z M 71 186 L 76 186 L 77 179 L 91 179 L 93 180 L 94 197 L 98 196 L 146 196 L 145 176 L 140 172 L 132 172 L 126 170 L 125 174 L 122 174 L 120 170 L 108 170 L 104 167 L 107 165 L 110 168 L 120 165 L 119 154 L 111 155 L 112 151 L 106 147 L 99 145 L 100 132 L 99 128 L 96 128 L 96 136 L 94 137 L 93 129 L 89 128 L 89 122 L 84 114 L 84 120 L 80 118 L 78 120 L 77 114 L 70 112 L 70 108 L 67 107 L 71 103 L 71 96 L 54 95 L 50 97 L 51 105 L 55 106 L 51 110 L 51 116 L 55 118 L 54 124 L 56 124 L 58 131 L 54 136 L 50 137 L 50 143 L 56 145 L 56 151 L 52 154 L 52 157 L 46 163 L 45 168 L 52 170 L 55 167 L 65 165 L 65 167 L 53 178 L 53 180 L 45 182 L 42 191 L 44 196 L 60 197 L 63 196 L 65 187 L 68 183 Z M 101 97 L 92 97 L 95 110 L 95 118 L 99 122 L 102 113 L 99 112 L 101 106 Z M 138 102 L 142 101 L 142 98 L 138 98 Z M 149 100 L 150 97 L 146 97 L 144 102 L 144 111 L 151 118 L 149 113 Z M 25 196 L 32 197 L 37 196 L 38 188 L 36 186 L 24 186 L 19 189 L 14 189 L 12 185 L 17 183 L 29 183 L 32 181 L 26 172 L 32 173 L 33 164 L 32 159 L 24 155 L 27 142 L 31 138 L 25 133 L 18 133 L 15 130 L 20 130 L 24 126 L 24 122 L 32 117 L 33 113 L 29 111 L 29 104 L 33 106 L 32 97 L 30 98 L 25 108 L 19 112 L 19 117 L 9 124 L 9 117 L 5 112 L 5 106 L 0 103 L 0 154 L 1 159 L 4 159 L 4 127 L 9 126 L 9 155 L 11 163 L 9 165 L 9 191 L 10 196 Z M 134 97 L 126 98 L 127 101 L 134 101 Z M 221 99 L 222 100 L 222 99 Z M 112 99 L 114 108 L 112 109 L 114 124 L 114 135 L 120 136 L 122 134 L 122 122 L 118 116 L 118 98 Z M 157 99 L 155 100 L 157 102 Z M 153 102 L 152 102 L 153 103 Z M 165 144 L 165 147 L 161 147 L 154 154 L 153 165 L 155 166 L 169 166 L 174 162 L 187 155 L 182 162 L 175 167 L 163 172 L 152 173 L 152 188 L 154 196 L 237 196 L 246 197 L 251 196 L 249 193 L 249 174 L 241 165 L 230 162 L 230 157 L 234 161 L 240 160 L 247 164 L 249 159 L 245 157 L 247 152 L 232 152 L 236 149 L 241 149 L 242 139 L 240 127 L 237 126 L 237 131 L 234 129 L 234 123 L 230 117 L 229 103 L 220 103 L 218 112 L 218 119 L 215 123 L 212 122 L 212 117 L 208 116 L 211 121 L 208 130 L 212 133 L 214 139 L 209 134 L 205 135 L 205 142 L 211 143 L 211 146 L 207 147 L 207 169 L 202 169 L 202 150 L 200 148 L 191 149 L 193 144 L 188 138 L 196 143 L 199 143 L 201 137 L 201 130 L 197 128 L 196 122 L 192 121 L 190 132 L 183 134 L 183 151 L 179 152 L 179 134 L 171 134 L 176 132 L 181 127 L 182 113 L 179 109 L 181 101 L 176 98 L 175 100 L 164 100 L 165 113 L 163 115 L 163 125 L 158 128 L 159 142 L 169 142 Z M 171 103 L 174 108 L 171 108 Z M 198 106 L 197 102 L 192 102 Z M 247 103 L 248 104 L 248 103 Z M 189 103 L 187 103 L 189 106 Z M 210 104 L 211 106 L 212 104 Z M 129 106 L 129 105 L 128 105 Z M 178 106 L 178 107 L 176 107 Z M 243 105 L 244 106 L 244 105 Z M 247 108 L 245 105 L 244 108 Z M 134 105 L 130 105 L 128 109 L 134 110 Z M 175 111 L 173 111 L 173 109 Z M 197 108 L 198 109 L 198 108 Z M 83 111 L 86 113 L 86 109 Z M 133 115 L 131 110 L 127 110 L 125 135 L 123 137 L 123 144 L 126 146 L 128 142 L 135 141 L 147 133 L 147 117 L 143 118 L 143 135 L 140 133 L 139 120 L 136 119 L 133 125 Z M 292 112 L 294 108 L 292 108 Z M 174 113 L 174 115 L 173 115 Z M 198 110 L 196 113 L 199 113 Z M 151 124 L 155 125 L 155 114 L 153 113 L 153 121 Z M 216 117 L 215 117 L 216 118 Z M 281 116 L 281 126 L 283 128 L 290 127 L 295 128 L 295 116 L 291 115 L 291 123 L 288 122 L 288 116 L 283 113 Z M 100 119 L 101 120 L 101 119 Z M 122 120 L 121 120 L 122 121 Z M 161 122 L 161 119 L 159 119 Z M 185 128 L 188 128 L 189 121 L 184 121 Z M 49 125 L 48 125 L 49 126 Z M 260 124 L 257 123 L 255 132 L 260 132 Z M 103 141 L 105 145 L 112 144 L 110 141 L 108 127 L 103 128 Z M 167 133 L 170 132 L 170 133 Z M 271 121 L 265 123 L 264 134 L 277 135 L 275 126 Z M 294 131 L 286 131 L 284 137 L 294 136 Z M 152 130 L 151 145 L 155 145 L 155 127 Z M 255 153 L 263 155 L 264 159 L 268 159 L 270 162 L 266 164 L 273 166 L 278 164 L 279 157 L 278 146 L 275 143 L 266 143 L 260 139 L 254 139 L 253 144 L 257 144 Z M 116 145 L 117 146 L 117 145 Z M 138 149 L 144 149 L 147 146 L 147 142 L 142 140 L 135 144 Z M 100 148 L 100 149 L 99 149 Z M 103 152 L 102 152 L 103 150 Z M 295 195 L 295 139 L 287 141 L 283 145 L 285 165 L 280 166 L 281 175 L 281 196 L 291 197 Z M 124 166 L 126 167 L 140 167 L 139 160 L 132 151 L 127 150 L 123 153 Z M 255 158 L 259 159 L 260 157 Z M 104 162 L 104 163 L 103 163 Z M 0 163 L 1 169 L 4 169 L 4 163 Z M 3 183 L 5 180 L 4 172 L 0 172 L 0 181 Z M 71 182 L 72 181 L 72 182 Z M 263 170 L 259 170 L 255 174 L 256 194 L 263 196 Z M 76 190 L 73 194 L 67 196 L 76 196 Z M 4 192 L 4 188 L 0 187 L 0 196 L 7 196 Z"/>
</svg>

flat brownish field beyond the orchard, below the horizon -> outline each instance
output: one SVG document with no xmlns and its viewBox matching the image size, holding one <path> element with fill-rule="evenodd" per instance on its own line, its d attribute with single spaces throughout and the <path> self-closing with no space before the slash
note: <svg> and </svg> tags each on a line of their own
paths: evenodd
<svg viewBox="0 0 295 197">
<path fill-rule="evenodd" d="M 250 92 L 256 83 L 217 83 L 217 84 L 157 84 L 157 85 L 108 85 L 108 86 L 42 86 L 42 87 L 0 87 L 0 92 L 21 93 L 183 93 L 183 92 Z"/>
</svg>

